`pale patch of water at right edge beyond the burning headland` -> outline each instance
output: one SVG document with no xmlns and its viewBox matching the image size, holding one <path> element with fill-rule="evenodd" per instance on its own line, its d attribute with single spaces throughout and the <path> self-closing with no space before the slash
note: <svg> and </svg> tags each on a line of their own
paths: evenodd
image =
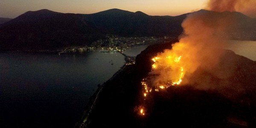
<svg viewBox="0 0 256 128">
<path fill-rule="evenodd" d="M 256 61 L 256 41 L 228 41 L 226 49 Z"/>
</svg>

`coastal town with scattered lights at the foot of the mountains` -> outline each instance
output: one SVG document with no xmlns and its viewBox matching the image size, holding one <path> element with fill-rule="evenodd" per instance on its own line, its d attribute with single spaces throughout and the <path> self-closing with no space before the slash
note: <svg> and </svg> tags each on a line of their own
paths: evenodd
<svg viewBox="0 0 256 128">
<path fill-rule="evenodd" d="M 118 52 L 140 45 L 163 43 L 173 38 L 175 37 L 120 37 L 117 35 L 106 35 L 105 39 L 99 39 L 90 45 L 61 48 L 59 49 L 59 53 L 82 53 L 84 51 L 94 49 L 102 49 L 102 52 Z"/>
</svg>

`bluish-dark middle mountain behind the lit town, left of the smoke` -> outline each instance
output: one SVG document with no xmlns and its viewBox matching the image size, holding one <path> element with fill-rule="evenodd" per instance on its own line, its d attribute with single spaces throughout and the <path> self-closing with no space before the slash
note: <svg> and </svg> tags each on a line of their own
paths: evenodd
<svg viewBox="0 0 256 128">
<path fill-rule="evenodd" d="M 113 15 L 114 14 L 114 15 Z M 183 30 L 180 24 L 186 15 L 149 16 L 143 12 L 128 12 L 120 9 L 84 15 L 104 34 L 122 36 L 164 36 L 179 35 Z"/>
</svg>

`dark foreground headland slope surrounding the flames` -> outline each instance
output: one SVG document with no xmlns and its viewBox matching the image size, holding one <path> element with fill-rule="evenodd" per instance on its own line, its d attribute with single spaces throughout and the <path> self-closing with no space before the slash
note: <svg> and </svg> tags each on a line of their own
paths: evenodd
<svg viewBox="0 0 256 128">
<path fill-rule="evenodd" d="M 175 42 L 175 41 L 173 41 Z M 125 68 L 115 79 L 107 81 L 95 109 L 89 117 L 89 128 L 161 128 L 170 127 L 254 127 L 256 124 L 256 62 L 226 51 L 221 68 L 235 65 L 229 84 L 220 87 L 215 72 L 195 71 L 194 80 L 212 78 L 215 88 L 198 87 L 195 81 L 153 92 L 146 102 L 145 116 L 138 115 L 141 105 L 142 79 L 151 70 L 151 58 L 171 44 L 150 46 L 136 58 L 136 64 Z M 246 72 L 246 71 L 249 72 Z M 208 87 L 208 86 L 207 86 Z"/>
</svg>

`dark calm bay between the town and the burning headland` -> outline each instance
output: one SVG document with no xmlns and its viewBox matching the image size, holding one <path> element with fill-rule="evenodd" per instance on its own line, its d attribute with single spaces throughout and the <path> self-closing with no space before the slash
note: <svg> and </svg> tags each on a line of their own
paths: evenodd
<svg viewBox="0 0 256 128">
<path fill-rule="evenodd" d="M 136 56 L 147 46 L 129 49 Z M 90 96 L 125 64 L 119 52 L 0 53 L 0 128 L 72 128 Z"/>
</svg>

